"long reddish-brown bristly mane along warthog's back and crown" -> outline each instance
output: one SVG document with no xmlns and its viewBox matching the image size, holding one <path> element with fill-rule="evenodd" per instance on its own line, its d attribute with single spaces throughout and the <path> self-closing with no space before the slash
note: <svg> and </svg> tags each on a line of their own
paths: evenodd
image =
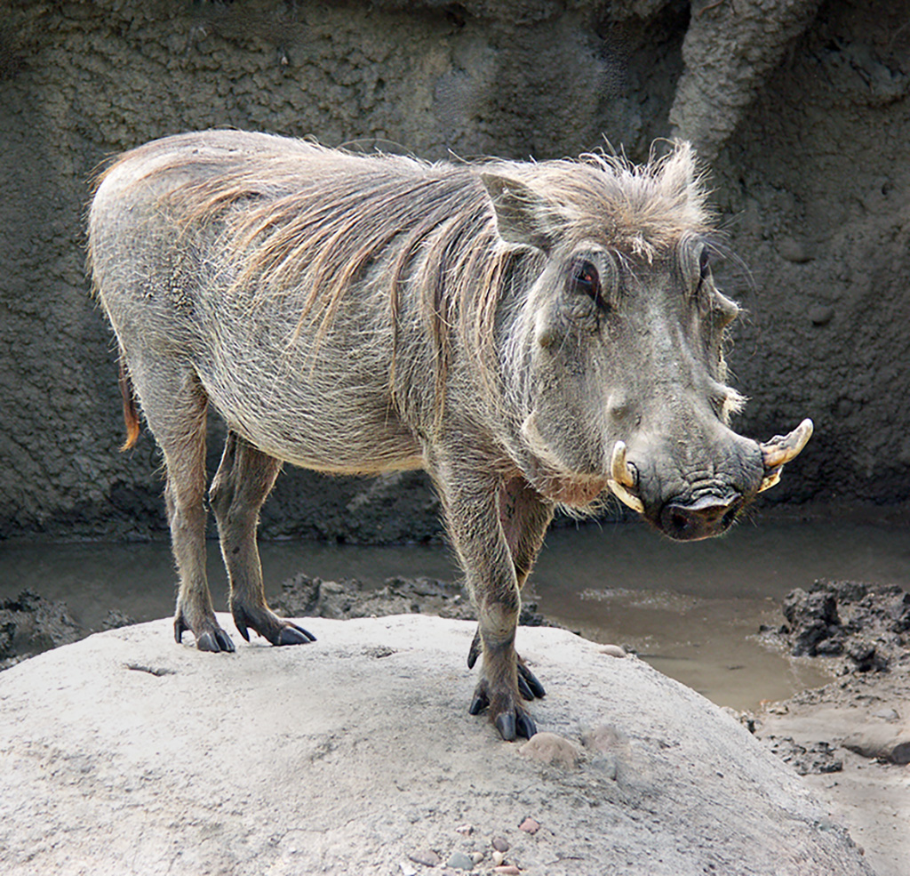
<svg viewBox="0 0 910 876">
<path fill-rule="evenodd" d="M 500 238 L 481 172 L 517 178 L 550 202 L 560 220 L 554 230 L 570 246 L 600 240 L 650 260 L 682 233 L 710 230 L 688 144 L 642 166 L 602 154 L 456 165 L 266 135 L 223 136 L 215 145 L 227 148 L 151 162 L 147 177 L 195 168 L 200 178 L 174 189 L 168 202 L 187 228 L 224 223 L 236 257 L 232 291 L 250 290 L 256 303 L 307 290 L 300 324 L 318 323 L 322 338 L 352 283 L 381 262 L 393 331 L 404 285 L 418 290 L 440 398 L 453 332 L 493 377 L 497 305 L 520 262 L 539 263 Z M 251 146 L 230 148 L 231 138 L 249 138 Z"/>
</svg>

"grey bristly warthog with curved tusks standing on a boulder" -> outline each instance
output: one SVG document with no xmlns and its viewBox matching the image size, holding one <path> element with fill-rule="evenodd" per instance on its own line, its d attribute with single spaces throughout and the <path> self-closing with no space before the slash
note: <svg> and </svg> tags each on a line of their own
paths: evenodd
<svg viewBox="0 0 910 876">
<path fill-rule="evenodd" d="M 424 468 L 477 606 L 470 713 L 531 737 L 521 586 L 557 505 L 612 492 L 676 539 L 723 533 L 812 424 L 728 428 L 711 225 L 690 148 L 428 164 L 238 131 L 166 138 L 100 179 L 96 292 L 167 463 L 174 629 L 232 651 L 206 581 L 206 413 L 227 423 L 209 491 L 240 634 L 313 637 L 266 604 L 258 511 L 283 462 Z"/>
</svg>

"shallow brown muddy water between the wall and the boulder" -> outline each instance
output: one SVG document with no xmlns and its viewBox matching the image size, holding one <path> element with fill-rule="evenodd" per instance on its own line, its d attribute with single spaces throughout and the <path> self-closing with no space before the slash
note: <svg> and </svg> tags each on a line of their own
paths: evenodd
<svg viewBox="0 0 910 876">
<path fill-rule="evenodd" d="M 270 594 L 304 571 L 326 579 L 454 578 L 442 547 L 354 547 L 308 542 L 261 545 Z M 167 616 L 173 583 L 166 544 L 0 545 L 0 599 L 31 587 L 62 599 L 84 626 L 100 628 L 116 608 L 138 621 Z M 217 607 L 226 586 L 209 544 Z M 847 522 L 764 520 L 723 539 L 672 544 L 643 525 L 558 530 L 531 579 L 542 612 L 595 641 L 634 648 L 653 666 L 715 702 L 754 708 L 828 677 L 809 661 L 769 651 L 754 634 L 781 622 L 780 599 L 815 578 L 910 587 L 910 530 Z"/>
</svg>

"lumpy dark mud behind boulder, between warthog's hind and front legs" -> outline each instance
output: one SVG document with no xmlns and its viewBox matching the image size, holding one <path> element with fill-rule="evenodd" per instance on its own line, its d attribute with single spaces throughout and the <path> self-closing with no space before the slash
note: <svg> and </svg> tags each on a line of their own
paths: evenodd
<svg viewBox="0 0 910 876">
<path fill-rule="evenodd" d="M 474 620 L 470 598 L 458 584 L 435 578 L 387 578 L 380 587 L 370 587 L 354 578 L 323 581 L 298 574 L 281 585 L 275 610 L 288 617 L 383 617 L 389 615 L 439 615 L 456 620 Z M 519 623 L 523 626 L 554 626 L 525 600 Z"/>
</svg>

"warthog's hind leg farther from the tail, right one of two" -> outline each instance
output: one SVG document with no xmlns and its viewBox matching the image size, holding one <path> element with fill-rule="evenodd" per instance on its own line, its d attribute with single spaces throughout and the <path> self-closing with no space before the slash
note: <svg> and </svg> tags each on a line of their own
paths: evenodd
<svg viewBox="0 0 910 876">
<path fill-rule="evenodd" d="M 266 604 L 256 546 L 259 509 L 280 470 L 281 463 L 274 456 L 229 432 L 209 501 L 230 583 L 230 610 L 240 635 L 249 641 L 248 627 L 252 627 L 272 645 L 302 645 L 316 637 L 278 617 Z"/>
</svg>

